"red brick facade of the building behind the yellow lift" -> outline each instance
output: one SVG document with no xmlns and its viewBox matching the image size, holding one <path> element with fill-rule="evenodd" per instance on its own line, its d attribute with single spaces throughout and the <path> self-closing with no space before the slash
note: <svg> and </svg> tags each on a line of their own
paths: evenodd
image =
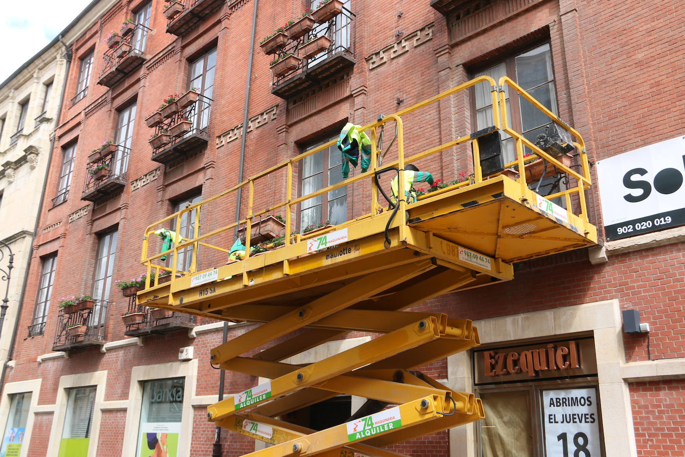
<svg viewBox="0 0 685 457">
<path fill-rule="evenodd" d="M 14 347 L 15 365 L 8 368 L 5 378 L 8 383 L 42 379 L 38 406 L 54 405 L 58 401 L 60 377 L 103 370 L 108 371 L 104 402 L 128 400 L 132 367 L 177 362 L 179 347 L 187 346 L 195 347 L 199 364 L 195 392 L 186 391 L 186 395 L 216 395 L 219 371 L 210 367 L 208 355 L 212 347 L 221 343 L 219 329 L 195 338 L 185 331 L 146 336 L 142 346 L 118 347 L 104 354 L 90 348 L 73 352 L 69 358 L 42 362 L 37 362 L 37 358 L 52 351 L 58 298 L 91 293 L 99 234 L 114 229 L 118 232 L 112 282 L 140 275 L 144 271 L 140 265 L 140 244 L 147 225 L 171 214 L 172 202 L 190 190 L 201 188 L 201 195 L 206 198 L 238 182 L 240 129 L 237 138 L 230 141 L 225 132 L 242 123 L 252 1 L 226 1 L 199 25 L 176 37 L 165 33 L 162 2 L 153 0 L 149 25 L 153 32 L 147 36 L 146 60 L 140 69 L 111 89 L 96 84 L 105 52 L 103 38 L 131 16 L 132 10 L 140 8 L 140 2 L 116 3 L 75 42 Z M 345 121 L 369 123 L 378 114 L 390 114 L 427 99 L 466 82 L 477 71 L 516 51 L 526 51 L 545 42 L 551 47 L 559 116 L 584 136 L 591 162 L 682 134 L 685 110 L 680 107 L 680 88 L 685 76 L 680 70 L 684 58 L 680 41 L 685 36 L 684 2 L 454 0 L 452 3 L 506 4 L 506 8 L 498 7 L 500 16 L 466 14 L 460 21 L 454 18 L 447 21 L 429 3 L 429 0 L 351 0 L 350 8 L 356 14 L 351 35 L 356 64 L 348 70 L 348 75 L 338 75 L 340 80 L 331 86 L 288 101 L 272 95 L 271 56 L 264 55 L 256 45 L 249 118 L 276 108 L 273 114 L 264 116 L 265 123 L 253 126 L 247 134 L 244 176 L 255 175 L 297 155 L 312 138 L 334 134 Z M 257 41 L 290 16 L 299 16 L 305 6 L 304 0 L 261 0 Z M 456 23 L 451 32 L 448 22 Z M 402 42 L 406 36 L 411 38 Z M 400 45 L 391 47 L 395 42 Z M 166 168 L 152 162 L 147 139 L 153 130 L 145 125 L 144 119 L 166 95 L 182 93 L 188 88 L 189 62 L 214 47 L 217 49 L 214 101 L 206 150 Z M 88 94 L 72 104 L 79 58 L 93 50 L 95 58 Z M 378 63 L 379 60 L 384 63 Z M 376 63 L 371 68 L 373 62 Z M 86 157 L 103 141 L 112 140 L 117 112 L 131 103 L 136 103 L 136 121 L 127 184 L 120 195 L 103 203 L 94 206 L 82 201 Z M 420 147 L 445 143 L 475 129 L 473 105 L 466 95 L 445 99 L 436 107 L 405 120 L 407 150 L 418 151 Z M 60 180 L 62 148 L 74 142 L 77 142 L 77 155 L 69 198 L 53 206 L 51 199 Z M 441 180 L 472 171 L 466 148 L 445 151 L 431 159 L 419 162 L 419 166 Z M 153 174 L 152 180 L 133 188 L 134 181 L 158 167 L 160 171 Z M 364 205 L 368 193 L 366 184 L 357 184 L 349 190 L 349 217 L 368 210 Z M 256 206 L 270 206 L 284 198 L 284 194 L 284 183 L 264 183 L 264 188 L 256 194 Z M 247 197 L 243 195 L 243 198 Z M 84 207 L 87 207 L 86 214 L 77 217 L 77 211 Z M 588 208 L 590 222 L 601 232 L 596 186 L 588 193 Z M 202 230 L 210 231 L 233 221 L 234 213 L 232 204 L 214 208 L 210 214 L 203 214 Z M 232 243 L 228 238 L 224 241 L 225 247 Z M 156 240 L 151 249 L 159 249 L 160 245 L 155 243 Z M 590 264 L 586 250 L 523 262 L 516 265 L 511 282 L 444 295 L 417 309 L 476 320 L 617 300 L 621 309 L 639 310 L 643 321 L 651 326 L 649 336 L 623 336 L 625 354 L 621 356 L 625 356 L 625 362 L 684 358 L 684 248 L 681 239 L 616 254 L 608 262 L 597 265 Z M 58 255 L 52 309 L 45 334 L 27 338 L 25 329 L 32 323 L 40 259 L 50 254 Z M 219 262 L 223 264 L 225 260 L 224 254 L 206 251 L 199 261 L 201 268 L 206 268 Z M 113 284 L 109 300 L 112 303 L 105 321 L 106 340 L 120 341 L 125 339 L 125 327 L 119 314 L 127 309 L 128 301 Z M 197 322 L 198 325 L 207 323 L 210 323 L 207 319 Z M 229 338 L 249 328 L 232 328 Z M 425 372 L 436 379 L 447 379 L 448 371 L 447 360 L 425 367 Z M 685 378 L 685 372 L 678 376 Z M 256 383 L 255 378 L 247 375 L 228 374 L 226 392 L 242 391 Z M 634 432 L 636 455 L 685 455 L 683 421 L 679 419 L 684 402 L 682 380 L 633 382 L 630 402 L 634 431 L 625 430 L 625 439 L 630 439 Z M 653 406 L 655 403 L 658 406 Z M 190 418 L 189 455 L 193 457 L 211 455 L 214 427 L 206 421 L 205 406 L 198 401 Z M 28 456 L 47 454 L 52 420 L 53 415 L 45 412 L 36 415 Z M 122 455 L 122 442 L 134 439 L 124 436 L 125 421 L 125 410 L 103 410 L 94 455 Z M 254 450 L 251 441 L 236 434 L 223 432 L 222 441 L 226 456 Z M 471 442 L 458 447 L 475 445 Z M 412 456 L 462 455 L 451 452 L 447 432 L 403 443 L 393 450 Z M 616 454 L 606 449 L 606 455 Z"/>
</svg>

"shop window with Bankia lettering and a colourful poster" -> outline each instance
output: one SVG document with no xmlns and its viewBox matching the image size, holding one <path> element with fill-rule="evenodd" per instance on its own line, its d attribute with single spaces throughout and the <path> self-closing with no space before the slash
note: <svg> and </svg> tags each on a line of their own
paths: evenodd
<svg viewBox="0 0 685 457">
<path fill-rule="evenodd" d="M 143 384 L 136 457 L 176 455 L 185 379 L 155 380 Z"/>
</svg>

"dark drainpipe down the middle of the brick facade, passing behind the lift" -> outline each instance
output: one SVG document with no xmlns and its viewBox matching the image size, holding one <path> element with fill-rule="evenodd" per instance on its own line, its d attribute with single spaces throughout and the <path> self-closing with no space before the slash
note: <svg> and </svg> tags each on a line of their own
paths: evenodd
<svg viewBox="0 0 685 457">
<path fill-rule="evenodd" d="M 252 7 L 252 36 L 250 38 L 250 55 L 247 61 L 247 83 L 245 84 L 245 103 L 243 103 L 242 109 L 242 132 L 240 136 L 240 160 L 238 161 L 238 183 L 242 182 L 243 175 L 245 172 L 245 137 L 247 136 L 247 112 L 250 103 L 250 86 L 252 81 L 252 62 L 254 58 L 254 48 L 255 48 L 255 34 L 257 31 L 257 5 L 259 0 L 253 0 Z M 236 199 L 236 222 L 240 221 L 240 201 L 242 199 L 242 187 L 238 188 L 238 197 Z M 238 236 L 238 225 L 236 225 L 236 230 L 234 234 Z M 249 246 L 247 246 L 249 249 Z M 223 338 L 221 341 L 226 343 L 228 340 L 228 322 L 223 323 Z M 225 370 L 219 371 L 219 402 L 223 400 L 223 390 L 225 382 Z M 221 427 L 216 427 L 214 431 L 214 445 L 212 446 L 212 457 L 221 457 Z"/>
</svg>

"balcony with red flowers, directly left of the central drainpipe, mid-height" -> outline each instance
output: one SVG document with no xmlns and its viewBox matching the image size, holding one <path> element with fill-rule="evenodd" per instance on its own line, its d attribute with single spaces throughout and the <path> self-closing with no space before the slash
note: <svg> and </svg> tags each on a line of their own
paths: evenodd
<svg viewBox="0 0 685 457">
<path fill-rule="evenodd" d="M 155 136 L 168 135 L 168 143 L 153 147 L 152 160 L 162 164 L 168 164 L 188 156 L 190 153 L 205 147 L 210 139 L 208 126 L 210 121 L 210 108 L 212 99 L 199 95 L 190 106 L 164 119 L 155 127 Z M 190 129 L 187 132 L 174 136 L 174 126 L 183 119 L 190 121 Z M 179 131 L 182 132 L 182 131 Z"/>
</svg>

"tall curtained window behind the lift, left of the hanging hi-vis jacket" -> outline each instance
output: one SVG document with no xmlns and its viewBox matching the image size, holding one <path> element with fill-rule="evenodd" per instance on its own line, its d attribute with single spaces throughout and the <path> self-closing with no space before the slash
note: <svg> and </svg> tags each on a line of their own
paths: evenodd
<svg viewBox="0 0 685 457">
<path fill-rule="evenodd" d="M 333 138 L 320 141 L 305 151 L 327 143 Z M 307 195 L 343 180 L 340 172 L 342 162 L 340 151 L 335 145 L 329 146 L 301 161 L 301 195 Z M 328 219 L 332 224 L 347 221 L 347 186 L 331 190 L 329 193 L 312 197 L 301 203 L 300 230 L 308 225 Z"/>
</svg>

